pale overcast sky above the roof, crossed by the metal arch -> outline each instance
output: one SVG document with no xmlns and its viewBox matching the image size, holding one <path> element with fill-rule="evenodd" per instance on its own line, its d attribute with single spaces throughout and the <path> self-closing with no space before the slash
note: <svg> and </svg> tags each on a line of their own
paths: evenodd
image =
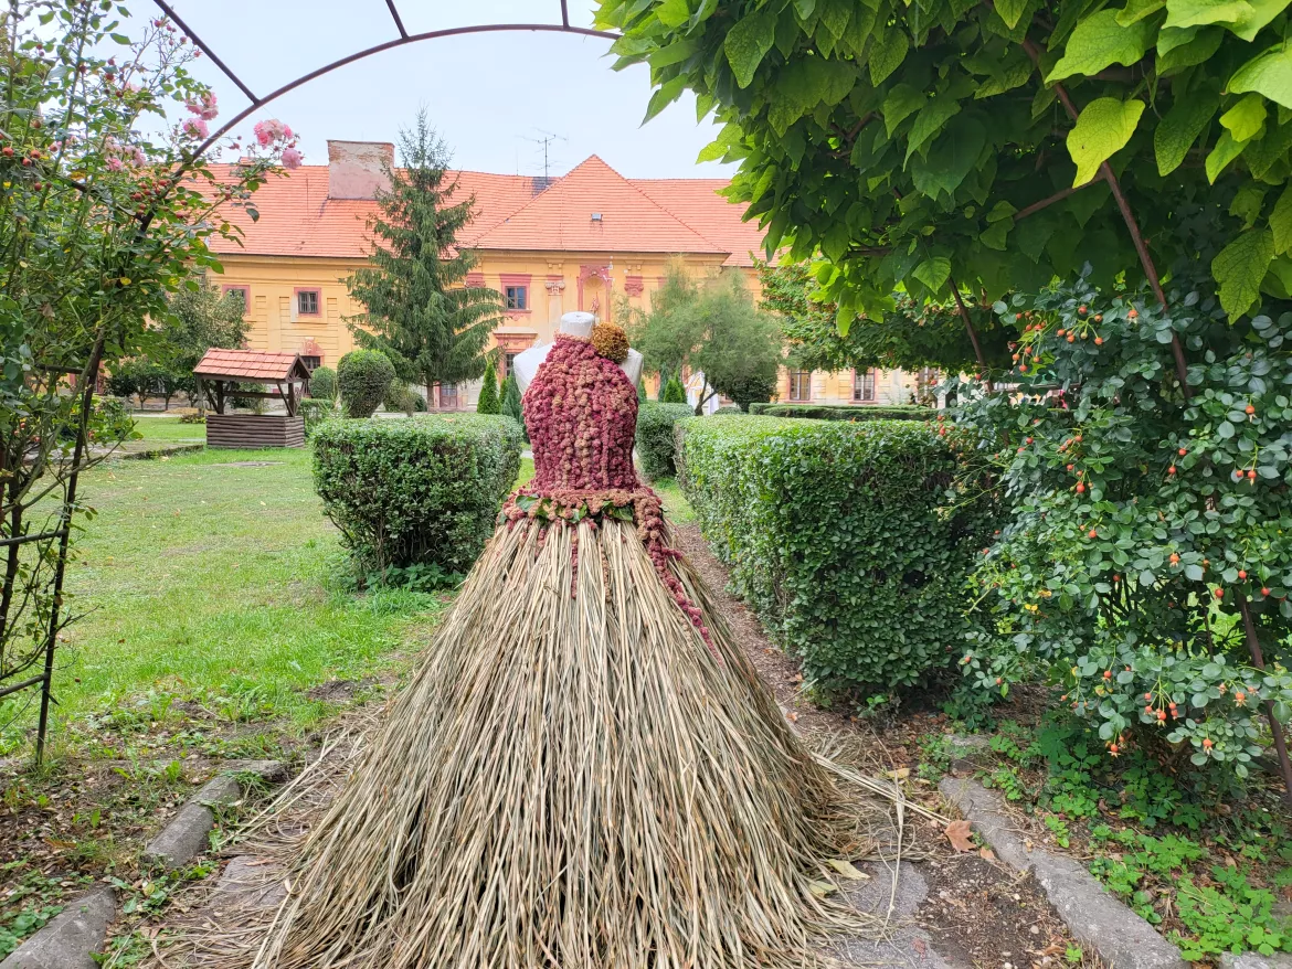
<svg viewBox="0 0 1292 969">
<path fill-rule="evenodd" d="M 258 96 L 362 48 L 398 36 L 385 0 L 173 0 L 202 40 Z M 559 0 L 398 0 L 410 34 L 475 23 L 559 23 Z M 130 4 L 155 17 L 152 0 Z M 570 0 L 570 19 L 592 26 L 590 0 Z M 716 163 L 698 165 L 713 140 L 696 124 L 685 97 L 647 125 L 645 67 L 615 72 L 610 41 L 562 34 L 496 32 L 410 44 L 342 67 L 266 105 L 258 118 L 279 118 L 300 132 L 306 164 L 327 163 L 327 140 L 394 141 L 420 105 L 453 151 L 460 168 L 543 173 L 549 145 L 552 174 L 601 155 L 629 177 L 720 177 Z M 218 68 L 199 59 L 196 72 L 220 96 L 221 120 L 247 98 Z M 214 125 L 212 125 L 214 127 Z"/>
</svg>

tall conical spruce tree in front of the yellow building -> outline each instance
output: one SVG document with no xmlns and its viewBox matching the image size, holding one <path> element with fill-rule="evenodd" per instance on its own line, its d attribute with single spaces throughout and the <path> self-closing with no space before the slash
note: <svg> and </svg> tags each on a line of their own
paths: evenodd
<svg viewBox="0 0 1292 969">
<path fill-rule="evenodd" d="M 474 198 L 448 203 L 457 180 L 425 111 L 401 132 L 399 152 L 404 167 L 388 165 L 390 189 L 377 193 L 380 212 L 368 222 L 368 265 L 346 279 L 364 313 L 346 323 L 360 346 L 385 353 L 401 380 L 424 384 L 429 395 L 435 384 L 483 372 L 501 300 L 494 289 L 466 286 L 475 258 L 457 247 L 457 234 L 472 220 Z"/>
</svg>

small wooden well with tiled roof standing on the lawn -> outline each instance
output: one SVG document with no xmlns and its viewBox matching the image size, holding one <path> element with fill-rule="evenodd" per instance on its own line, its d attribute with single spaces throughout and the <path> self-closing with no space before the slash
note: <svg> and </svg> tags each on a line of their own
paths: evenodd
<svg viewBox="0 0 1292 969">
<path fill-rule="evenodd" d="M 193 375 L 213 413 L 207 415 L 207 447 L 304 447 L 305 419 L 296 413 L 310 371 L 295 353 L 207 350 Z M 278 393 L 240 390 L 239 384 L 274 384 Z M 225 413 L 235 397 L 279 399 L 287 413 Z"/>
</svg>

